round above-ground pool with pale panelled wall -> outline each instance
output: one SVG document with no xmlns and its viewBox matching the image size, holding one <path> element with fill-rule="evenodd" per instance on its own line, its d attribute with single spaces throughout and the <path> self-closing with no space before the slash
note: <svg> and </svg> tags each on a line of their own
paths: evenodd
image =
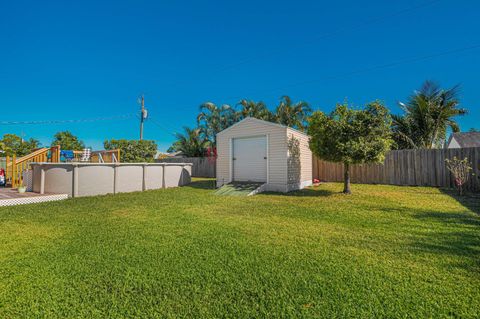
<svg viewBox="0 0 480 319">
<path fill-rule="evenodd" d="M 33 163 L 33 191 L 70 197 L 127 193 L 190 183 L 190 163 Z"/>
</svg>

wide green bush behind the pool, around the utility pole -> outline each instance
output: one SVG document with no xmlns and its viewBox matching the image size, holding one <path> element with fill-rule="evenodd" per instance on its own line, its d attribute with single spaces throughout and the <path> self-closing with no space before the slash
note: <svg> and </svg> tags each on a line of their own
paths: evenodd
<svg viewBox="0 0 480 319">
<path fill-rule="evenodd" d="M 123 163 L 153 162 L 157 153 L 157 144 L 149 140 L 107 140 L 103 146 L 106 150 L 120 149 L 120 161 Z"/>
</svg>

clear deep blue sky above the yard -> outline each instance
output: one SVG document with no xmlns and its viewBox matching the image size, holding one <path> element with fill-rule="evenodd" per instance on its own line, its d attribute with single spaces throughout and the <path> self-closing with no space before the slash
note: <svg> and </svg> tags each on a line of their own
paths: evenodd
<svg viewBox="0 0 480 319">
<path fill-rule="evenodd" d="M 426 79 L 462 85 L 480 129 L 480 2 L 465 1 L 3 1 L 0 121 L 130 116 L 0 125 L 49 144 L 70 130 L 101 148 L 145 138 L 165 150 L 202 102 L 282 95 L 330 111 L 380 99 L 394 113 Z M 457 49 L 459 49 L 457 51 Z M 393 64 L 393 65 L 391 65 Z"/>
</svg>

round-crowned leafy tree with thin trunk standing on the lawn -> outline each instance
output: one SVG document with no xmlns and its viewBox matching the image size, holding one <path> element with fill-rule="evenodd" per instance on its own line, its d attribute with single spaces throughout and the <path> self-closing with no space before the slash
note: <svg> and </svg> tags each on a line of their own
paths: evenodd
<svg viewBox="0 0 480 319">
<path fill-rule="evenodd" d="M 329 115 L 313 113 L 310 149 L 323 160 L 343 163 L 343 193 L 350 194 L 350 165 L 383 161 L 392 143 L 390 126 L 388 109 L 378 101 L 360 110 L 339 104 Z"/>
</svg>

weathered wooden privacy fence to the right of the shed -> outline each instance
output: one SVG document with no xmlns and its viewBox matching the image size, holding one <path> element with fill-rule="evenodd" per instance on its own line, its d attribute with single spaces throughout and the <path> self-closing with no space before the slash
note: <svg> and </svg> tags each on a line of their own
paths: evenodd
<svg viewBox="0 0 480 319">
<path fill-rule="evenodd" d="M 352 165 L 352 183 L 405 186 L 454 187 L 454 179 L 445 159 L 468 158 L 473 175 L 466 184 L 470 191 L 480 191 L 480 147 L 434 150 L 390 151 L 383 164 Z M 343 164 L 313 158 L 313 178 L 326 182 L 343 181 Z"/>
</svg>

